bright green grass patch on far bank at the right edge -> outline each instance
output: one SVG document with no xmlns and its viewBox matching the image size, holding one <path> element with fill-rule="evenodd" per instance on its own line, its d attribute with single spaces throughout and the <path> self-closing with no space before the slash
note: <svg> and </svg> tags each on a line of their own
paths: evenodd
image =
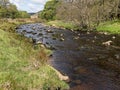
<svg viewBox="0 0 120 90">
<path fill-rule="evenodd" d="M 111 34 L 120 34 L 120 22 L 108 21 L 108 22 L 101 23 L 97 27 L 97 31 L 109 32 Z"/>
</svg>

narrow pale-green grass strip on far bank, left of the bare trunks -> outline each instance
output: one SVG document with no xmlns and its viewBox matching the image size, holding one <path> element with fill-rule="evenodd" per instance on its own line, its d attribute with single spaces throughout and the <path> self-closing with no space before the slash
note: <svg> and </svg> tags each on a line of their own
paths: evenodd
<svg viewBox="0 0 120 90">
<path fill-rule="evenodd" d="M 47 25 L 52 25 L 55 27 L 60 27 L 60 28 L 65 28 L 65 29 L 70 29 L 70 30 L 79 29 L 79 27 L 72 22 L 63 22 L 63 21 L 58 21 L 58 20 L 47 22 Z"/>
</svg>

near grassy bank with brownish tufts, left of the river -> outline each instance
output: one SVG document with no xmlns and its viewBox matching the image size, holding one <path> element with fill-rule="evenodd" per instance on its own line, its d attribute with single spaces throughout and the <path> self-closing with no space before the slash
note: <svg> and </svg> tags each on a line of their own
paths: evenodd
<svg viewBox="0 0 120 90">
<path fill-rule="evenodd" d="M 27 38 L 14 33 L 16 25 L 0 24 L 0 90 L 68 88 L 46 64 L 49 51 L 33 48 Z"/>
</svg>

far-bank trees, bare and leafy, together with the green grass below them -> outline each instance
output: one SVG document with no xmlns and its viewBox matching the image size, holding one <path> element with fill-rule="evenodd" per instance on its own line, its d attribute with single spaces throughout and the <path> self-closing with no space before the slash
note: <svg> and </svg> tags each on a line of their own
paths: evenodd
<svg viewBox="0 0 120 90">
<path fill-rule="evenodd" d="M 120 0 L 50 0 L 39 16 L 48 25 L 119 34 Z"/>
</svg>

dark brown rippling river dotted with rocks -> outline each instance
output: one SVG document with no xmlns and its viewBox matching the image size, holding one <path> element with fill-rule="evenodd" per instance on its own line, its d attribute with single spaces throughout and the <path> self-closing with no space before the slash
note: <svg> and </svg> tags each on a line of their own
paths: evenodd
<svg viewBox="0 0 120 90">
<path fill-rule="evenodd" d="M 71 90 L 120 90 L 120 35 L 42 24 L 21 25 L 17 32 L 53 50 L 50 63 L 70 77 Z"/>
</svg>

